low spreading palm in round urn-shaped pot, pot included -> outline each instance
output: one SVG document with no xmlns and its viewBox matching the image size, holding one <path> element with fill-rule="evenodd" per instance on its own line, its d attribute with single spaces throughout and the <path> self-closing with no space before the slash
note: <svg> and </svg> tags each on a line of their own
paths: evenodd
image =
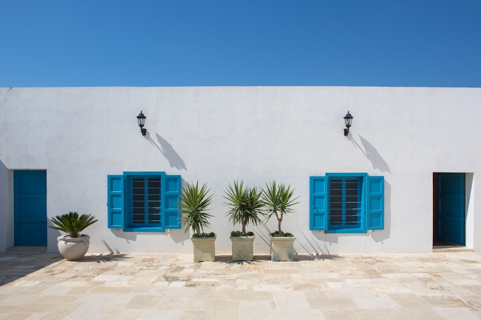
<svg viewBox="0 0 481 320">
<path fill-rule="evenodd" d="M 89 250 L 90 237 L 80 234 L 82 230 L 96 223 L 98 220 L 95 216 L 82 214 L 79 216 L 77 212 L 70 211 L 68 214 L 57 215 L 50 221 L 56 225 L 49 226 L 52 229 L 65 232 L 57 238 L 58 251 L 65 259 L 80 260 Z"/>
</svg>

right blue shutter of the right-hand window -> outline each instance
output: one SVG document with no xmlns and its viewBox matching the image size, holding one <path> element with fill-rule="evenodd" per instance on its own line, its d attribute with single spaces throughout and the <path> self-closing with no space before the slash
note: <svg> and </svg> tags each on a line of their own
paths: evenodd
<svg viewBox="0 0 481 320">
<path fill-rule="evenodd" d="M 384 177 L 367 177 L 366 229 L 384 229 Z"/>
</svg>

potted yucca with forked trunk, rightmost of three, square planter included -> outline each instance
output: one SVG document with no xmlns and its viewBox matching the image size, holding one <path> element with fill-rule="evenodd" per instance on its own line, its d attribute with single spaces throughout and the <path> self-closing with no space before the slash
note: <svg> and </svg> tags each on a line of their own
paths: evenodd
<svg viewBox="0 0 481 320">
<path fill-rule="evenodd" d="M 279 230 L 271 233 L 271 259 L 272 261 L 292 261 L 294 255 L 295 237 L 289 232 L 283 232 L 281 223 L 284 216 L 293 212 L 292 206 L 299 202 L 294 202 L 297 198 L 292 199 L 294 189 L 290 189 L 290 185 L 286 187 L 284 183 L 276 184 L 272 181 L 266 183 L 266 189 L 262 190 L 262 200 L 267 211 L 267 220 L 274 215 L 277 218 Z"/>
</svg>

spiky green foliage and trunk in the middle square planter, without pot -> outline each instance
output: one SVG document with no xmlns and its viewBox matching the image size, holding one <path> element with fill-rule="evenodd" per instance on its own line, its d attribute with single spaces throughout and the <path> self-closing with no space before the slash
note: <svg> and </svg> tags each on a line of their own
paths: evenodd
<svg viewBox="0 0 481 320">
<path fill-rule="evenodd" d="M 257 225 L 262 223 L 260 216 L 264 215 L 262 212 L 263 202 L 261 192 L 258 192 L 255 187 L 249 188 L 247 186 L 244 188 L 242 180 L 241 183 L 234 181 L 234 188 L 229 184 L 224 198 L 227 200 L 225 204 L 230 208 L 227 212 L 229 221 L 234 224 L 241 224 L 244 236 L 247 234 L 245 232 L 247 224 Z"/>
</svg>

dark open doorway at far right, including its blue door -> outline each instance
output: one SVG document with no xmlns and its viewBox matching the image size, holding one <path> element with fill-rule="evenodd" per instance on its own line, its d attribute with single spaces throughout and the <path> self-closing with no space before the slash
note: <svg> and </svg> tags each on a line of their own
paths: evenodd
<svg viewBox="0 0 481 320">
<path fill-rule="evenodd" d="M 465 173 L 433 173 L 434 244 L 466 245 L 465 181 Z"/>
</svg>

